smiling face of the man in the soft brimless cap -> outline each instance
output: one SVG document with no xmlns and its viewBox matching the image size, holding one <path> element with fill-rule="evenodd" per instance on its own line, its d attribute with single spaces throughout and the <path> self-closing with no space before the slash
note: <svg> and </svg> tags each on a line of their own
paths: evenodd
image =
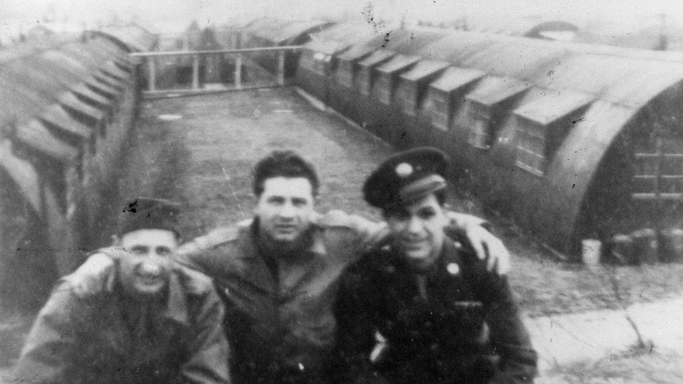
<svg viewBox="0 0 683 384">
<path fill-rule="evenodd" d="M 131 297 L 150 299 L 164 292 L 171 270 L 171 254 L 178 246 L 176 235 L 164 229 L 138 229 L 123 234 L 118 246 L 129 255 L 119 261 L 119 279 Z"/>
</svg>

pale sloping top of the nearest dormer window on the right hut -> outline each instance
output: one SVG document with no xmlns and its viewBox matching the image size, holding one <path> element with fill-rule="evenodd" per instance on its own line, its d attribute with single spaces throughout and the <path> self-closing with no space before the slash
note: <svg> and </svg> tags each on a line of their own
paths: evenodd
<svg viewBox="0 0 683 384">
<path fill-rule="evenodd" d="M 591 95 L 571 90 L 535 89 L 533 92 L 537 98 L 519 106 L 512 113 L 541 125 L 548 125 L 555 120 L 564 118 L 593 101 Z"/>
</svg>

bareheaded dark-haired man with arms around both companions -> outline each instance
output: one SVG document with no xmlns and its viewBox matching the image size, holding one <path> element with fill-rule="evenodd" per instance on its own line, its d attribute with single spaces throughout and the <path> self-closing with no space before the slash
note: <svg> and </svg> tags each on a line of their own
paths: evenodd
<svg viewBox="0 0 683 384">
<path fill-rule="evenodd" d="M 272 152 L 254 169 L 255 218 L 181 246 L 181 262 L 213 277 L 224 296 L 237 383 L 322 381 L 335 345 L 339 276 L 387 233 L 384 224 L 341 211 L 317 214 L 318 187 L 309 162 L 292 151 Z M 468 234 L 504 272 L 500 240 L 481 229 L 481 220 L 454 216 L 469 222 Z M 86 264 L 90 273 L 106 273 L 106 260 Z M 84 281 L 83 289 L 101 288 Z"/>
</svg>

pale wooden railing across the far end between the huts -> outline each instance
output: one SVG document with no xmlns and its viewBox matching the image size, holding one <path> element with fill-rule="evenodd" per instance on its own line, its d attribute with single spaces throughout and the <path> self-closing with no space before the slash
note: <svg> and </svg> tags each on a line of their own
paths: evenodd
<svg viewBox="0 0 683 384">
<path fill-rule="evenodd" d="M 287 45 L 278 47 L 267 47 L 267 48 L 245 48 L 245 49 L 234 49 L 234 50 L 195 50 L 195 51 L 167 51 L 167 52 L 134 52 L 130 55 L 132 57 L 138 57 L 143 60 L 143 64 L 147 66 L 148 76 L 148 87 L 144 91 L 145 94 L 167 94 L 167 93 L 207 93 L 216 92 L 216 87 L 211 88 L 211 90 L 203 89 L 200 83 L 199 76 L 199 66 L 202 59 L 208 57 L 225 57 L 228 60 L 232 59 L 234 62 L 234 83 L 233 84 L 223 84 L 223 87 L 218 88 L 220 90 L 241 90 L 246 87 L 272 87 L 276 85 L 285 85 L 285 58 L 286 52 L 294 51 L 300 49 L 300 45 Z M 270 52 L 276 52 L 277 55 L 277 68 L 276 73 L 271 74 L 275 76 L 274 81 L 270 82 L 260 82 L 258 84 L 246 85 L 242 81 L 242 71 L 246 65 L 255 66 L 255 61 L 253 56 L 268 54 Z M 159 59 L 181 59 L 185 57 L 192 58 L 192 83 L 191 87 L 176 87 L 169 89 L 159 89 L 157 87 L 160 74 L 157 69 L 159 66 L 157 60 Z M 167 67 L 173 67 L 173 64 Z M 270 73 L 269 73 L 270 74 Z M 168 76 L 168 74 L 164 74 Z"/>
</svg>

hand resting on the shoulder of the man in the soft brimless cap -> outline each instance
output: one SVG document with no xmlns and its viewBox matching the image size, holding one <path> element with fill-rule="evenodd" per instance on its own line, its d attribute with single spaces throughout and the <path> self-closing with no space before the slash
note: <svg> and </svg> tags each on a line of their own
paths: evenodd
<svg viewBox="0 0 683 384">
<path fill-rule="evenodd" d="M 112 292 L 116 281 L 116 263 L 123 248 L 103 248 L 93 253 L 64 279 L 71 284 L 73 293 L 78 297 L 88 297 L 100 292 Z"/>
</svg>

